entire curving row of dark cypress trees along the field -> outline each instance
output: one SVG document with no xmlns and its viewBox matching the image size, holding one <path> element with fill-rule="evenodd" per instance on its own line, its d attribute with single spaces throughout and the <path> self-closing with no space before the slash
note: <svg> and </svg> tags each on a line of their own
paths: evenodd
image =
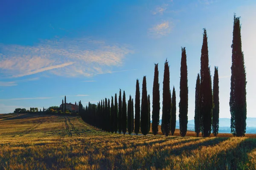
<svg viewBox="0 0 256 170">
<path fill-rule="evenodd" d="M 207 31 L 204 28 L 203 45 L 201 48 L 201 70 L 197 75 L 195 88 L 195 133 L 197 136 L 218 135 L 219 127 L 219 87 L 218 67 L 215 66 L 212 80 L 209 68 Z M 246 130 L 246 76 L 244 68 L 244 55 L 241 50 L 241 25 L 240 17 L 234 15 L 232 66 L 231 66 L 231 89 L 230 89 L 230 113 L 231 133 L 234 136 L 244 136 Z M 126 103 L 125 91 L 117 102 L 117 94 L 110 99 L 103 99 L 95 104 L 83 107 L 79 102 L 79 114 L 88 124 L 111 133 L 131 134 L 139 132 L 146 135 L 150 129 L 150 116 L 152 116 L 152 132 L 158 132 L 160 119 L 160 87 L 158 80 L 158 64 L 154 67 L 154 83 L 152 96 L 152 115 L 150 115 L 150 96 L 147 95 L 146 77 L 143 77 L 142 94 L 140 98 L 139 80 L 136 82 L 135 109 L 134 100 L 131 95 Z M 141 99 L 141 101 L 140 101 Z M 65 102 L 66 103 L 66 102 Z M 64 109 L 65 110 L 65 109 Z M 135 112 L 135 116 L 134 116 Z M 186 136 L 188 123 L 188 79 L 186 49 L 181 48 L 180 63 L 180 102 L 179 102 L 179 127 L 180 135 Z M 176 94 L 173 87 L 172 95 L 170 90 L 169 64 L 165 62 L 163 77 L 163 105 L 161 131 L 168 136 L 173 135 L 176 124 Z"/>
</svg>

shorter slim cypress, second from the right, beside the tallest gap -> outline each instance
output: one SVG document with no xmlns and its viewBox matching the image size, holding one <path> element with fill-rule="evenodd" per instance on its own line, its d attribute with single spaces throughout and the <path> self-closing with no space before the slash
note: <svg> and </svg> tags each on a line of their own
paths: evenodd
<svg viewBox="0 0 256 170">
<path fill-rule="evenodd" d="M 218 67 L 215 67 L 214 77 L 213 77 L 213 103 L 214 108 L 212 110 L 212 133 L 214 136 L 218 135 L 219 127 L 219 87 L 218 87 Z"/>
</svg>

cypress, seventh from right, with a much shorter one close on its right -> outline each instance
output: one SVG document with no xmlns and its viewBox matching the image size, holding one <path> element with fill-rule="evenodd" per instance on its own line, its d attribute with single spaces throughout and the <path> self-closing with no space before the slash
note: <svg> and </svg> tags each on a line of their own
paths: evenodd
<svg viewBox="0 0 256 170">
<path fill-rule="evenodd" d="M 171 92 L 170 92 L 170 72 L 169 65 L 166 59 L 163 73 L 163 109 L 162 109 L 162 133 L 169 135 L 171 127 Z"/>
</svg>

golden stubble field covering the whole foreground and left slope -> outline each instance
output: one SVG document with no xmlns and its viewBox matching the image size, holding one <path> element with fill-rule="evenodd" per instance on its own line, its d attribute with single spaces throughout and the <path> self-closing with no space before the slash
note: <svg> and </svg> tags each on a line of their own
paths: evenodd
<svg viewBox="0 0 256 170">
<path fill-rule="evenodd" d="M 256 170 L 256 139 L 111 134 L 79 116 L 2 114 L 0 169 Z"/>
</svg>

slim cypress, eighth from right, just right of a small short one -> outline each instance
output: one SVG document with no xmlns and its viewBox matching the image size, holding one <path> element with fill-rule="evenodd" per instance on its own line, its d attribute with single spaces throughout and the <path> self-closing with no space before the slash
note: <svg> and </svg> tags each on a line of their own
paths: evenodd
<svg viewBox="0 0 256 170">
<path fill-rule="evenodd" d="M 158 64 L 155 64 L 152 99 L 152 132 L 154 135 L 157 135 L 158 133 L 158 125 L 160 119 L 160 91 L 158 75 Z"/>
</svg>

